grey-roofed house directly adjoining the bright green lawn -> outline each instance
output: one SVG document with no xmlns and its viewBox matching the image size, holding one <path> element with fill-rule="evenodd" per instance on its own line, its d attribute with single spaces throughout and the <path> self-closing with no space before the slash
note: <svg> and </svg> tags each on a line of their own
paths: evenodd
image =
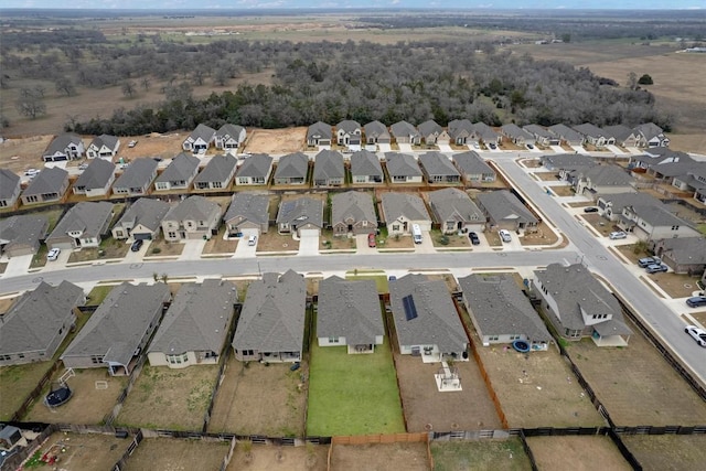
<svg viewBox="0 0 706 471">
<path fill-rule="evenodd" d="M 383 344 L 385 325 L 375 280 L 324 279 L 319 283 L 317 312 L 319 346 L 345 345 L 349 354 L 356 354 L 373 353 Z"/>
</svg>

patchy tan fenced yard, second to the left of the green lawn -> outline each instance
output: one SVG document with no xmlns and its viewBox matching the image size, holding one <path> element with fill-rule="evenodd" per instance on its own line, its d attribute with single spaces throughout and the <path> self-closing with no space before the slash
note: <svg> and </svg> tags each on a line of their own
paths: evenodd
<svg viewBox="0 0 706 471">
<path fill-rule="evenodd" d="M 169 430 L 201 430 L 217 375 L 217 365 L 171 370 L 146 363 L 122 404 L 116 424 Z"/>
</svg>

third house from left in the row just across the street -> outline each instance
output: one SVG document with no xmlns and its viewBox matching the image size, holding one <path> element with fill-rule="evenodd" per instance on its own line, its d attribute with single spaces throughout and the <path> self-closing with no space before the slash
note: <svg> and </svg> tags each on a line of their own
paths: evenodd
<svg viewBox="0 0 706 471">
<path fill-rule="evenodd" d="M 113 226 L 113 238 L 124 240 L 132 237 L 135 240 L 152 240 L 159 236 L 162 220 L 171 206 L 161 200 L 140 197 L 122 213 L 120 220 Z"/>
</svg>

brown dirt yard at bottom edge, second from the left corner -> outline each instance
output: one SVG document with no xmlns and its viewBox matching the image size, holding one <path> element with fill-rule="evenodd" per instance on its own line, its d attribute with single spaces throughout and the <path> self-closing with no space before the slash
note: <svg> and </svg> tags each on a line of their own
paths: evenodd
<svg viewBox="0 0 706 471">
<path fill-rule="evenodd" d="M 128 459 L 126 470 L 217 470 L 228 441 L 146 438 Z"/>
</svg>

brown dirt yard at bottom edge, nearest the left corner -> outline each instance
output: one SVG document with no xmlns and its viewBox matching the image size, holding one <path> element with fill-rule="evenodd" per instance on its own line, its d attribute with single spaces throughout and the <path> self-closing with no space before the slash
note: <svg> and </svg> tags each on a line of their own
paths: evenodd
<svg viewBox="0 0 706 471">
<path fill-rule="evenodd" d="M 55 432 L 40 448 L 40 456 L 55 456 L 54 469 L 107 470 L 113 469 L 129 445 L 130 440 L 110 435 Z"/>
</svg>

